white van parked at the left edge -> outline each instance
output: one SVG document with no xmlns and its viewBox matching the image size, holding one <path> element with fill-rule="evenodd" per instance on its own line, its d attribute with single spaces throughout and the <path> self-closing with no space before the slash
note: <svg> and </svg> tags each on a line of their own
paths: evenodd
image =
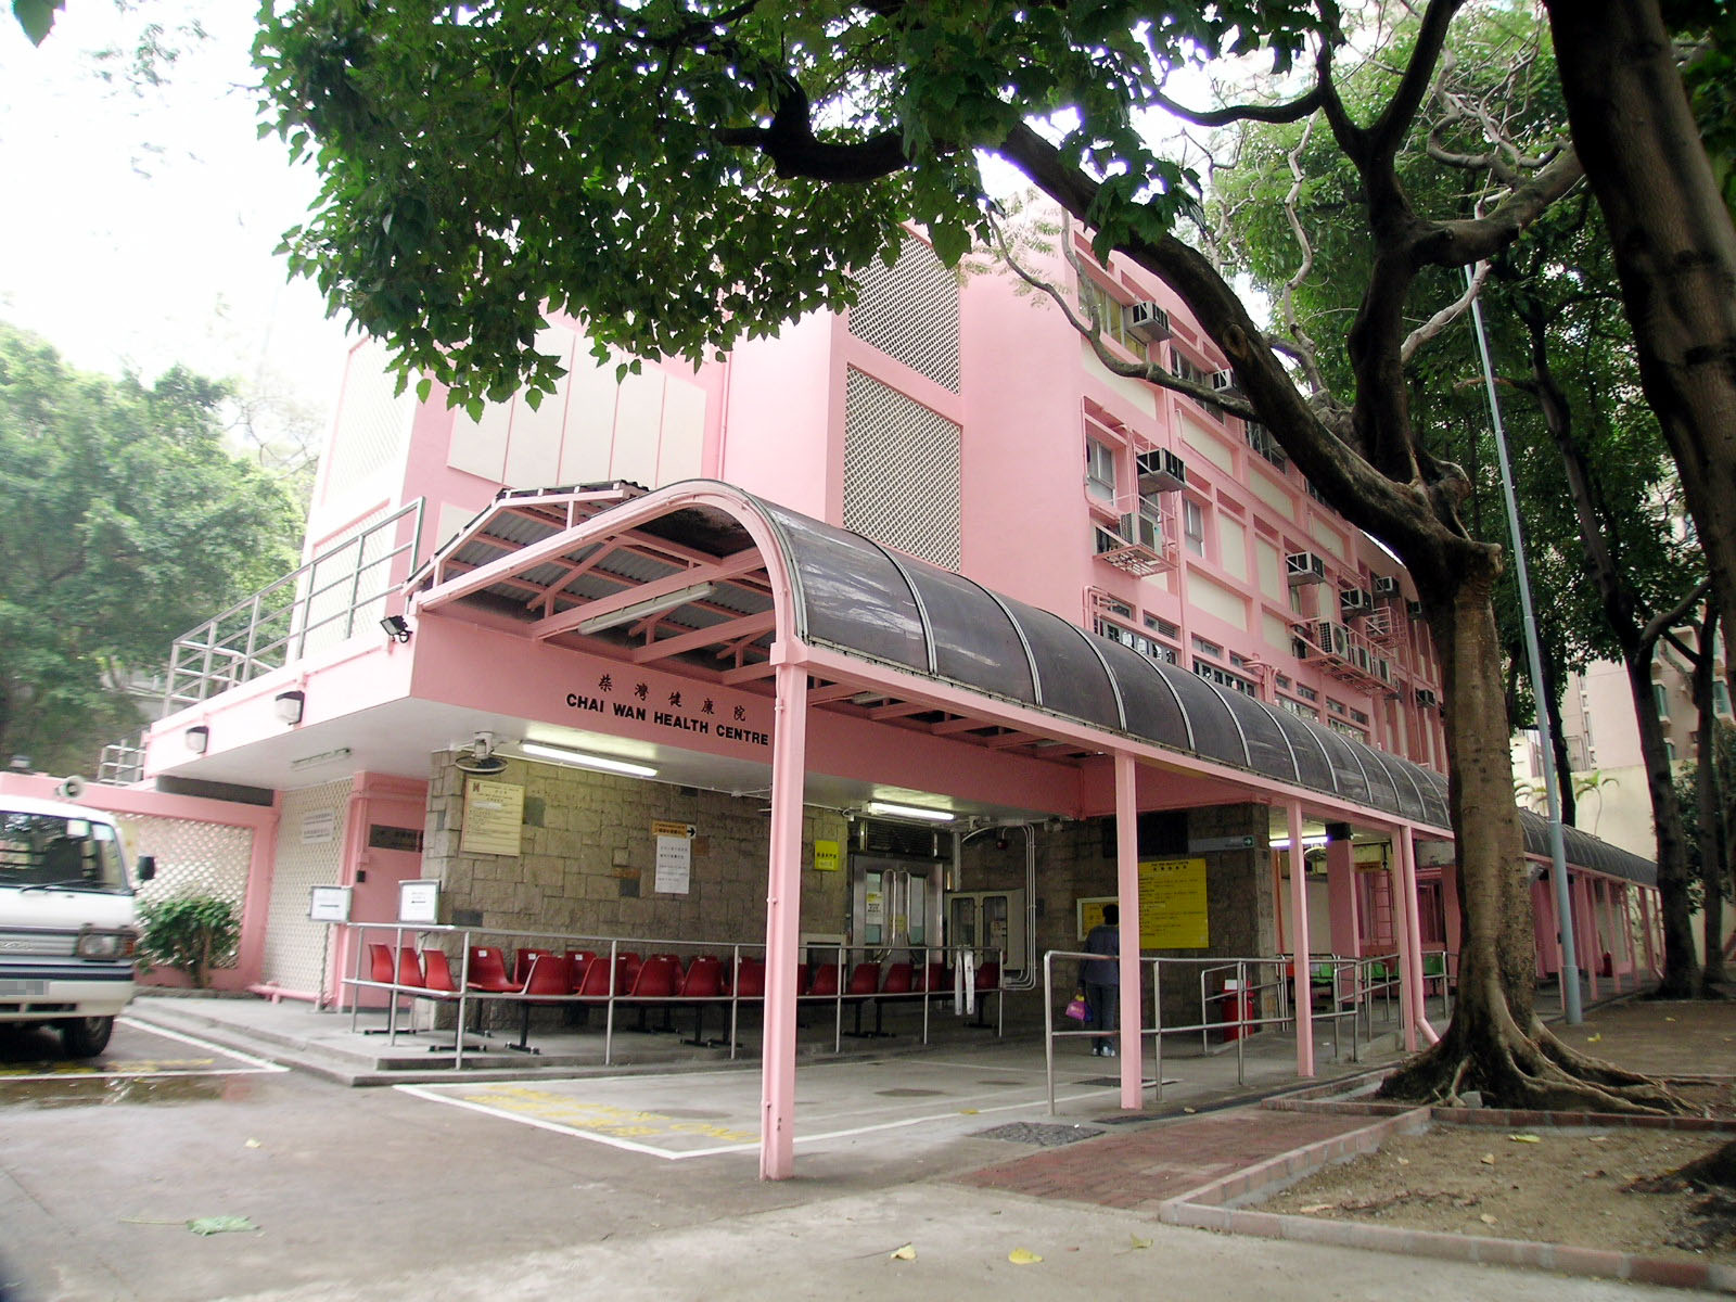
<svg viewBox="0 0 1736 1302">
<path fill-rule="evenodd" d="M 155 873 L 141 856 L 137 880 Z M 101 1054 L 134 990 L 132 892 L 113 818 L 0 795 L 0 1023 L 54 1026 L 69 1057 Z"/>
</svg>

